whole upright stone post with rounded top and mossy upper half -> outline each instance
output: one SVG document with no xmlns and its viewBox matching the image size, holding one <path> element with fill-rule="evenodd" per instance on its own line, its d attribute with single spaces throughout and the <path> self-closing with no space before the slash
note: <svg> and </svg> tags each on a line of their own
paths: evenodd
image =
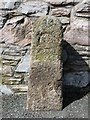
<svg viewBox="0 0 90 120">
<path fill-rule="evenodd" d="M 56 17 L 40 17 L 33 27 L 28 109 L 62 109 L 62 26 Z"/>
</svg>

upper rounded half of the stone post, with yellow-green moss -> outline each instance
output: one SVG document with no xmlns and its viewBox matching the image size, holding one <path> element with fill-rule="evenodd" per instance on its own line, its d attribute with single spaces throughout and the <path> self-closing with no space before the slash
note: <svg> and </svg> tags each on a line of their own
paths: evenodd
<svg viewBox="0 0 90 120">
<path fill-rule="evenodd" d="M 61 59 L 62 25 L 58 18 L 43 16 L 33 26 L 33 60 L 57 61 Z M 37 53 L 37 54 L 36 54 Z"/>
</svg>

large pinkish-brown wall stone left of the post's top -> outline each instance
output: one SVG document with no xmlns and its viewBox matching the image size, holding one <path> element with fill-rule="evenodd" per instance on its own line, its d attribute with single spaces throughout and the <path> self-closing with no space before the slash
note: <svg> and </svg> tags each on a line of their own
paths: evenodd
<svg viewBox="0 0 90 120">
<path fill-rule="evenodd" d="M 3 29 L 0 30 L 0 42 L 15 43 L 26 46 L 31 43 L 31 20 L 18 16 L 9 19 Z"/>
</svg>

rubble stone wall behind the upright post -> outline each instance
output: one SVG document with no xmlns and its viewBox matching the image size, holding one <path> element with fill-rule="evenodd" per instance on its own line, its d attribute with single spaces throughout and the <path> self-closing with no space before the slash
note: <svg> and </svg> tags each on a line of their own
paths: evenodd
<svg viewBox="0 0 90 120">
<path fill-rule="evenodd" d="M 63 26 L 63 83 L 86 87 L 90 82 L 89 5 L 90 0 L 1 0 L 0 81 L 16 92 L 27 91 L 33 23 L 50 15 Z"/>
</svg>

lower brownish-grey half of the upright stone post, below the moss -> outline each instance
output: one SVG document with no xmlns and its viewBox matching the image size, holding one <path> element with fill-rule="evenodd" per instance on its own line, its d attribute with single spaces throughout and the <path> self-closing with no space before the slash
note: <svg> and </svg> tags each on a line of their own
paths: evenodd
<svg viewBox="0 0 90 120">
<path fill-rule="evenodd" d="M 61 110 L 61 70 L 60 63 L 35 62 L 31 67 L 28 93 L 28 109 Z"/>
</svg>

